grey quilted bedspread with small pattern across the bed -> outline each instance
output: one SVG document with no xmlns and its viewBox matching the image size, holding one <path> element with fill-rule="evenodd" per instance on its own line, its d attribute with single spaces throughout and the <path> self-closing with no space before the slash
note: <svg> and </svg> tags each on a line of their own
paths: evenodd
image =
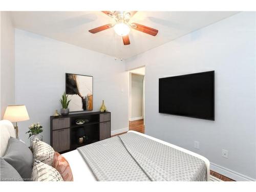
<svg viewBox="0 0 256 192">
<path fill-rule="evenodd" d="M 135 133 L 77 150 L 98 181 L 206 181 L 207 177 L 203 160 Z"/>
</svg>

